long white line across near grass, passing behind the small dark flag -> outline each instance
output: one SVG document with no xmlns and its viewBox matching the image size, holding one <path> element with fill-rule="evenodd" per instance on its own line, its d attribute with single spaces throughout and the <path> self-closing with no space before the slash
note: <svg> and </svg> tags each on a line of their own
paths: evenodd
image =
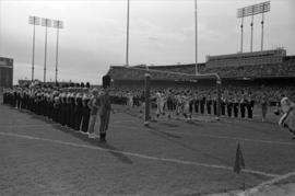
<svg viewBox="0 0 295 196">
<path fill-rule="evenodd" d="M 23 138 L 23 139 L 31 139 L 31 140 L 40 140 L 40 141 L 47 141 L 47 142 L 52 142 L 52 143 L 59 143 L 59 145 L 64 145 L 64 146 L 79 147 L 79 148 L 86 148 L 86 149 L 93 149 L 93 150 L 99 150 L 99 151 L 106 151 L 106 152 L 121 153 L 121 154 L 125 154 L 125 155 L 130 155 L 130 157 L 135 157 L 135 158 L 141 158 L 141 159 L 149 159 L 149 160 L 164 161 L 164 162 L 186 164 L 186 165 L 194 165 L 194 166 L 213 168 L 213 169 L 227 170 L 227 171 L 233 172 L 232 166 L 225 166 L 225 165 L 206 164 L 206 163 L 184 161 L 184 160 L 169 159 L 169 158 L 158 158 L 158 157 L 145 155 L 145 154 L 133 153 L 133 152 L 121 151 L 121 150 L 111 150 L 111 149 L 94 147 L 94 146 L 88 146 L 88 145 L 82 145 L 82 143 L 73 143 L 73 142 L 61 141 L 61 140 L 54 140 L 54 139 L 33 137 L 33 136 L 27 136 L 27 135 L 19 135 L 19 134 L 10 134 L 10 132 L 0 132 L 0 135 L 9 136 L 9 137 L 17 137 L 17 138 Z M 278 174 L 266 173 L 266 172 L 255 171 L 255 170 L 243 170 L 243 172 L 244 173 L 263 175 L 263 176 L 268 176 L 268 177 L 280 176 Z"/>
</svg>

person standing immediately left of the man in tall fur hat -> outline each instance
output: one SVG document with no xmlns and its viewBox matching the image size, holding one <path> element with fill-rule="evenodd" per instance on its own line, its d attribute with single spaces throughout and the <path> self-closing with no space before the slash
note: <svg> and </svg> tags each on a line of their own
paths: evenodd
<svg viewBox="0 0 295 196">
<path fill-rule="evenodd" d="M 90 125 L 88 125 L 88 138 L 95 138 L 96 135 L 94 134 L 94 126 L 97 119 L 97 113 L 99 109 L 99 100 L 98 100 L 98 90 L 92 90 L 92 99 L 88 101 L 87 105 L 91 109 L 90 112 Z"/>
</svg>

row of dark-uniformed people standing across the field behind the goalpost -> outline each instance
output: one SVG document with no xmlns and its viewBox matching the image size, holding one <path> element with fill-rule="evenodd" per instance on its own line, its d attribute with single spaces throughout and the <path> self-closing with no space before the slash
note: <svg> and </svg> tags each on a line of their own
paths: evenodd
<svg viewBox="0 0 295 196">
<path fill-rule="evenodd" d="M 134 96 L 127 93 L 127 105 L 135 106 Z M 132 104 L 132 105 L 130 105 Z M 228 117 L 252 118 L 255 101 L 248 96 L 224 95 L 221 97 L 220 115 Z M 152 107 L 156 108 L 157 116 L 162 111 L 186 114 L 217 115 L 217 99 L 214 95 L 203 95 L 191 92 L 157 91 L 152 95 Z"/>
</svg>

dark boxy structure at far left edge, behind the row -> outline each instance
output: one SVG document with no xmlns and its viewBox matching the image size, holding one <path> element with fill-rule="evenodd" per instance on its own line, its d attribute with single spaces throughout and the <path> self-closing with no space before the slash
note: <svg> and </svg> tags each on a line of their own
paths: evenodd
<svg viewBox="0 0 295 196">
<path fill-rule="evenodd" d="M 0 91 L 3 88 L 12 88 L 13 83 L 13 59 L 0 57 Z"/>
</svg>

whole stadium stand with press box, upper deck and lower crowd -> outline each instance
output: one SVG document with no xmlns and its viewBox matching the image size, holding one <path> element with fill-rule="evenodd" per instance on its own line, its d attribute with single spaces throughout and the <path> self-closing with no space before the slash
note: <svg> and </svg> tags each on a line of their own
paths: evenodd
<svg viewBox="0 0 295 196">
<path fill-rule="evenodd" d="M 245 56 L 250 64 L 228 62 L 228 58 Z M 212 60 L 222 59 L 224 62 L 212 66 Z M 236 58 L 238 59 L 238 58 Z M 231 59 L 229 59 L 231 61 Z M 246 60 L 244 60 L 246 62 Z M 215 64 L 215 62 L 214 62 Z M 150 70 L 154 91 L 172 88 L 175 91 L 184 92 L 187 89 L 198 91 L 199 94 L 212 94 L 215 91 L 215 83 L 212 79 L 197 80 L 193 77 L 178 73 L 194 74 L 196 65 L 170 65 L 170 66 L 111 66 L 110 74 L 114 88 L 118 88 L 118 95 L 125 97 L 131 92 L 135 97 L 142 94 L 144 73 Z M 153 72 L 162 71 L 162 72 Z M 209 57 L 205 64 L 198 64 L 200 73 L 219 73 L 223 80 L 223 90 L 231 94 L 250 94 L 256 103 L 259 103 L 262 94 L 268 96 L 272 105 L 275 105 L 282 95 L 295 100 L 295 56 L 286 56 L 284 49 L 256 51 L 252 54 L 234 54 L 225 56 Z M 176 72 L 176 73 L 174 73 Z"/>
</svg>

